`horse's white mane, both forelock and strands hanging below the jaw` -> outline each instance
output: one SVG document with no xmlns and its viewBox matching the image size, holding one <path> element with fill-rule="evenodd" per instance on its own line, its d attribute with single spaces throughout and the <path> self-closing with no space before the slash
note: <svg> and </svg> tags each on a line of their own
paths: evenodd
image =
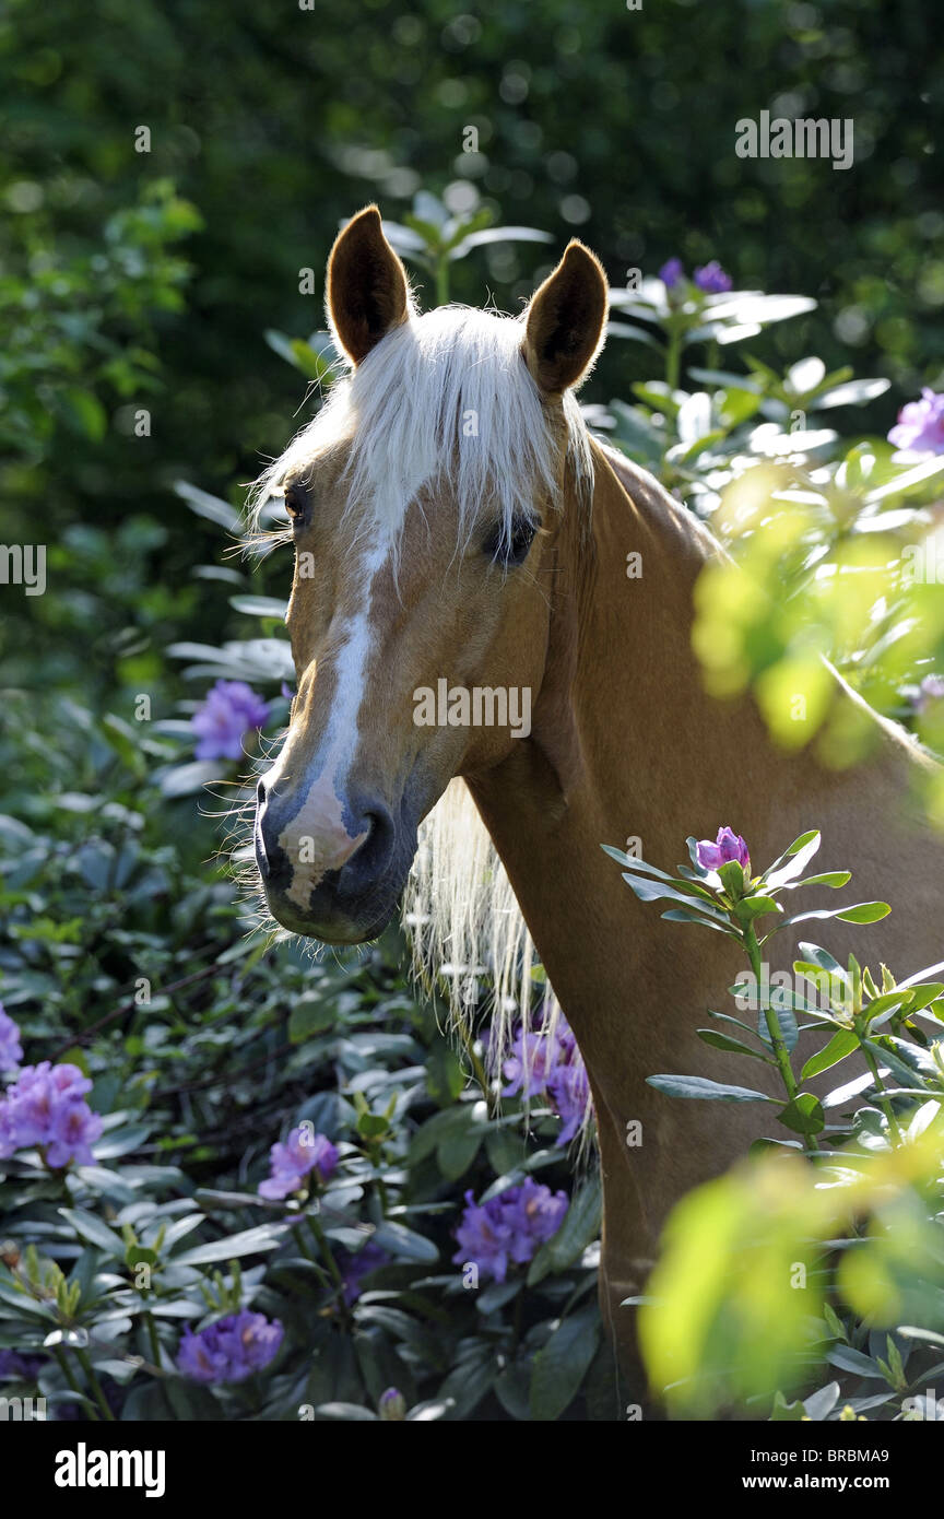
<svg viewBox="0 0 944 1519">
<path fill-rule="evenodd" d="M 411 314 L 332 384 L 314 421 L 256 482 L 253 526 L 290 474 L 340 444 L 351 445 L 349 503 L 369 506 L 376 532 L 393 545 L 411 500 L 440 471 L 449 472 L 458 500 L 458 548 L 486 504 L 498 504 L 508 536 L 516 516 L 534 515 L 536 495 L 560 510 L 565 477 L 589 510 L 593 463 L 580 407 L 566 392 L 562 469 L 562 439 L 525 366 L 522 339 L 522 319 L 493 311 L 451 305 Z M 466 1030 L 480 978 L 490 978 L 492 1069 L 501 1068 L 507 1039 L 533 1001 L 542 1000 L 542 1025 L 552 1031 L 557 1001 L 549 986 L 534 996 L 531 936 L 460 779 L 420 826 L 404 924 L 420 974 L 442 977 L 452 1016 Z"/>
</svg>

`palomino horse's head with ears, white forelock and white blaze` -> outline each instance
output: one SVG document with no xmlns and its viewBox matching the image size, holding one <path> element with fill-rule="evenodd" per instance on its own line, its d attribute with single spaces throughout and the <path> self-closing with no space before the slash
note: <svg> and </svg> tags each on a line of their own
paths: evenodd
<svg viewBox="0 0 944 1519">
<path fill-rule="evenodd" d="M 348 372 L 260 483 L 294 544 L 297 690 L 255 857 L 284 927 L 357 943 L 449 781 L 527 743 L 565 488 L 592 486 L 574 386 L 607 286 L 572 242 L 521 317 L 419 314 L 370 207 L 334 245 L 326 305 Z"/>
</svg>

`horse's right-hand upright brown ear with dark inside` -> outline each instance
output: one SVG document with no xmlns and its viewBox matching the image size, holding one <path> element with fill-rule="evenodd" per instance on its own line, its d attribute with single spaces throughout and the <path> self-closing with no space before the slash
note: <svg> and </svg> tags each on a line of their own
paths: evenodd
<svg viewBox="0 0 944 1519">
<path fill-rule="evenodd" d="M 574 238 L 525 313 L 525 363 L 542 390 L 557 395 L 586 378 L 603 346 L 607 307 L 603 264 Z"/>
</svg>

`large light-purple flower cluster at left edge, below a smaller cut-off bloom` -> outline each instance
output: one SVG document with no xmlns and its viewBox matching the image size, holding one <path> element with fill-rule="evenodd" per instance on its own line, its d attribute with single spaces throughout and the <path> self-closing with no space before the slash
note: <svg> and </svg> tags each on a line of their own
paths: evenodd
<svg viewBox="0 0 944 1519">
<path fill-rule="evenodd" d="M 85 1101 L 91 1082 L 77 1065 L 27 1065 L 0 1101 L 0 1159 L 38 1145 L 58 1171 L 70 1161 L 93 1165 L 91 1147 L 102 1136 L 102 1116 Z"/>
</svg>

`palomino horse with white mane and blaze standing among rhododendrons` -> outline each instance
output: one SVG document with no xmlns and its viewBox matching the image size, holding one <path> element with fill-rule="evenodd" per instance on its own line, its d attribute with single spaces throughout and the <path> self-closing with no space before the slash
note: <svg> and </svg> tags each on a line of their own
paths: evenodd
<svg viewBox="0 0 944 1519">
<path fill-rule="evenodd" d="M 725 1078 L 695 1030 L 744 966 L 727 937 L 639 902 L 601 845 L 633 837 L 671 869 L 691 832 L 730 823 L 763 861 L 820 828 L 861 896 L 894 907 L 867 939 L 836 924 L 830 946 L 909 971 L 944 958 L 944 848 L 911 784 L 930 761 L 897 725 L 870 712 L 870 761 L 829 770 L 809 746 L 777 749 L 750 693 L 706 693 L 692 595 L 719 545 L 575 399 L 607 307 L 601 263 L 572 240 L 521 316 L 419 314 L 376 207 L 340 232 L 326 311 L 345 377 L 255 492 L 256 509 L 284 500 L 294 544 L 297 690 L 253 840 L 267 908 L 296 934 L 370 940 L 402 898 L 431 968 L 474 989 L 489 971 L 511 1016 L 537 952 L 589 1072 L 599 1299 L 637 1382 L 621 1305 L 674 1202 L 742 1156 L 757 1120 L 647 1085 Z M 419 720 L 442 682 L 449 702 Z M 528 691 L 528 731 L 472 723 L 457 690 Z M 774 966 L 792 958 L 786 942 Z"/>
</svg>

